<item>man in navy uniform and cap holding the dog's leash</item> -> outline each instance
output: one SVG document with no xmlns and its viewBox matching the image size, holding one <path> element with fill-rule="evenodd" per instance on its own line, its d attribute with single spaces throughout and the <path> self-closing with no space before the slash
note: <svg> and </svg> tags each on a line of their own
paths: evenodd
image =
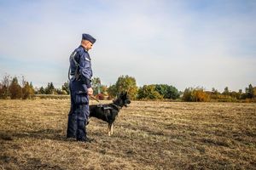
<svg viewBox="0 0 256 170">
<path fill-rule="evenodd" d="M 71 108 L 68 114 L 67 138 L 76 138 L 78 141 L 90 142 L 86 136 L 85 124 L 89 116 L 89 95 L 93 94 L 90 85 L 92 70 L 88 51 L 96 42 L 89 34 L 82 35 L 79 48 L 70 56 Z"/>
</svg>

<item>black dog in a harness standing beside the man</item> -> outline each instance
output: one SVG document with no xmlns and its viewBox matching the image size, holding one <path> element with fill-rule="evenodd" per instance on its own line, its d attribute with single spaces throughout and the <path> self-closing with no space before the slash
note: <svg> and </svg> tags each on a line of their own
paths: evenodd
<svg viewBox="0 0 256 170">
<path fill-rule="evenodd" d="M 122 109 L 123 106 L 127 107 L 128 104 L 131 104 L 131 100 L 127 92 L 125 92 L 119 94 L 119 97 L 113 100 L 111 104 L 90 105 L 90 115 L 87 125 L 90 122 L 90 117 L 96 117 L 104 122 L 108 122 L 108 136 L 111 136 L 113 134 L 113 122 L 115 118 L 118 116 L 120 109 Z"/>
</svg>

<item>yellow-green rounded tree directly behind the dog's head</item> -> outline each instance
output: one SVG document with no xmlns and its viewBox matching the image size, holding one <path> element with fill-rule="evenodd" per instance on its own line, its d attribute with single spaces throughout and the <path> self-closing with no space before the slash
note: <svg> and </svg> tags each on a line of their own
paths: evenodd
<svg viewBox="0 0 256 170">
<path fill-rule="evenodd" d="M 117 94 L 121 94 L 122 92 L 127 92 L 131 99 L 137 98 L 137 83 L 134 77 L 120 76 L 118 81 L 115 83 L 115 87 L 117 90 Z"/>
</svg>

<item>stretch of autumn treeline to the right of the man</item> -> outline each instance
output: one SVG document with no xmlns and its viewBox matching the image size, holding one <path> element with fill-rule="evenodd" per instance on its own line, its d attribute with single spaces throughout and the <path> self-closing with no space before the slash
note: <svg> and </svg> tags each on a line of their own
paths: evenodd
<svg viewBox="0 0 256 170">
<path fill-rule="evenodd" d="M 101 99 L 112 99 L 122 91 L 127 91 L 131 99 L 140 100 L 177 100 L 188 102 L 256 102 L 256 87 L 249 84 L 245 91 L 240 89 L 238 92 L 230 91 L 228 87 L 223 92 L 218 92 L 212 88 L 212 91 L 206 91 L 204 88 L 185 88 L 184 91 L 178 91 L 172 85 L 150 84 L 137 87 L 134 77 L 121 76 L 117 82 L 109 87 L 102 86 L 100 78 L 93 79 L 94 92 Z M 101 93 L 102 92 L 102 93 Z M 102 97 L 103 96 L 103 97 Z M 105 97 L 104 97 L 105 96 Z"/>
</svg>

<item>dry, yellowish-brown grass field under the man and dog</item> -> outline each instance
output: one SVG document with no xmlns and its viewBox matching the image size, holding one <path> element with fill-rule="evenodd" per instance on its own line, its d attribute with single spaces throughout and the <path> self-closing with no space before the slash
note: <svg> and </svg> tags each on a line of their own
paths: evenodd
<svg viewBox="0 0 256 170">
<path fill-rule="evenodd" d="M 96 103 L 96 102 L 94 102 Z M 133 101 L 67 140 L 68 99 L 0 100 L 0 169 L 256 169 L 256 104 Z"/>
</svg>

